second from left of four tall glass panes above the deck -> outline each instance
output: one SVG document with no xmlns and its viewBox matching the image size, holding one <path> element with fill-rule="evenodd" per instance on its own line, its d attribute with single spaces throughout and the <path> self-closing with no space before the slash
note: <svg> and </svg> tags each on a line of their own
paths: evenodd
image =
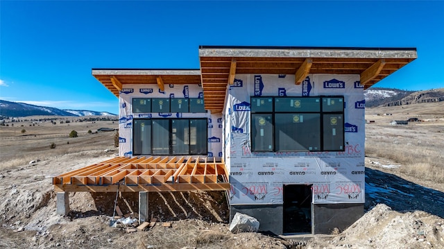
<svg viewBox="0 0 444 249">
<path fill-rule="evenodd" d="M 169 155 L 168 119 L 153 119 L 153 155 Z"/>
</svg>

